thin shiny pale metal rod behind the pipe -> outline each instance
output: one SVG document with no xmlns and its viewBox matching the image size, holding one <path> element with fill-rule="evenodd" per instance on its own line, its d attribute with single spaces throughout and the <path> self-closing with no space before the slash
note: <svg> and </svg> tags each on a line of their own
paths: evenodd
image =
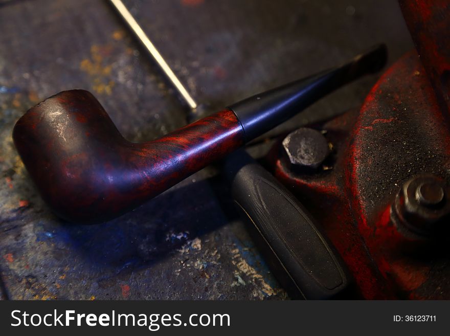
<svg viewBox="0 0 450 336">
<path fill-rule="evenodd" d="M 161 67 L 164 74 L 167 78 L 172 82 L 175 86 L 176 91 L 181 95 L 186 104 L 189 105 L 191 109 L 195 109 L 197 107 L 197 103 L 188 93 L 187 89 L 183 86 L 183 84 L 179 81 L 179 79 L 175 76 L 170 66 L 166 63 L 164 58 L 159 53 L 158 49 L 155 48 L 153 43 L 148 38 L 147 34 L 144 33 L 141 26 L 137 23 L 128 9 L 125 7 L 121 0 L 109 0 L 111 4 L 116 8 L 119 14 L 124 19 L 125 23 L 130 27 L 136 37 L 141 41 L 143 46 L 148 50 L 150 55 L 153 57 L 156 63 Z"/>
</svg>

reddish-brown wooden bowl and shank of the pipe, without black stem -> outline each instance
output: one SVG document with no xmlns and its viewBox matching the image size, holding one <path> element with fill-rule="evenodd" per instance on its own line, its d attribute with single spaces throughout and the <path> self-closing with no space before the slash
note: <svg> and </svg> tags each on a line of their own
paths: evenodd
<svg viewBox="0 0 450 336">
<path fill-rule="evenodd" d="M 83 90 L 32 107 L 13 138 L 42 197 L 72 222 L 117 217 L 244 143 L 242 126 L 227 109 L 160 139 L 131 143 Z"/>
</svg>

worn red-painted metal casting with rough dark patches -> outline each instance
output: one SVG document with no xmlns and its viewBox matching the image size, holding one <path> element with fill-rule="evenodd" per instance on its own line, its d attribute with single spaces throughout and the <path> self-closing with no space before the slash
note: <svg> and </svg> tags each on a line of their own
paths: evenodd
<svg viewBox="0 0 450 336">
<path fill-rule="evenodd" d="M 359 113 L 323 126 L 332 169 L 299 173 L 282 157 L 275 174 L 324 225 L 364 298 L 448 299 L 450 4 L 401 8 L 420 59 L 404 55 Z"/>
</svg>

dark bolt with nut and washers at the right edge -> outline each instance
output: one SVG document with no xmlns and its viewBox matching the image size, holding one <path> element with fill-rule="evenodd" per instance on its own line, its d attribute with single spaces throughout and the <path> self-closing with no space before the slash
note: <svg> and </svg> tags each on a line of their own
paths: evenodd
<svg viewBox="0 0 450 336">
<path fill-rule="evenodd" d="M 416 234 L 437 234 L 450 214 L 450 186 L 441 177 L 416 175 L 400 189 L 392 206 L 393 219 Z"/>
</svg>

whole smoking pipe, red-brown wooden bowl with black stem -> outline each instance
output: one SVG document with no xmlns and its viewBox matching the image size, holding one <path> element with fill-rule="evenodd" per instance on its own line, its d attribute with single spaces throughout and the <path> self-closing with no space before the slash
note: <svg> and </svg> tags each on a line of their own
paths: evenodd
<svg viewBox="0 0 450 336">
<path fill-rule="evenodd" d="M 381 45 L 145 143 L 125 140 L 91 93 L 63 91 L 30 108 L 14 126 L 13 140 L 59 217 L 98 223 L 138 207 L 385 62 Z"/>
</svg>

